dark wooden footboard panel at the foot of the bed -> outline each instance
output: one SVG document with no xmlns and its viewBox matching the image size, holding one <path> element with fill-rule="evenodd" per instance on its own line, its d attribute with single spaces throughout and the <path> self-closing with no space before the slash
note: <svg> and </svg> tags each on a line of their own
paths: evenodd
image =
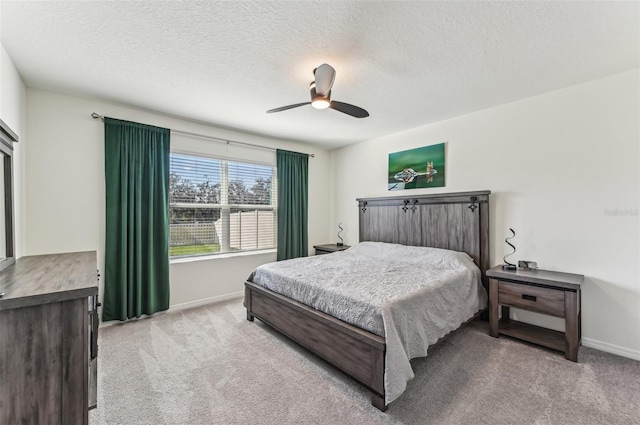
<svg viewBox="0 0 640 425">
<path fill-rule="evenodd" d="M 247 320 L 257 317 L 336 366 L 370 390 L 372 404 L 385 410 L 383 337 L 252 282 L 245 283 L 244 305 Z"/>
</svg>

